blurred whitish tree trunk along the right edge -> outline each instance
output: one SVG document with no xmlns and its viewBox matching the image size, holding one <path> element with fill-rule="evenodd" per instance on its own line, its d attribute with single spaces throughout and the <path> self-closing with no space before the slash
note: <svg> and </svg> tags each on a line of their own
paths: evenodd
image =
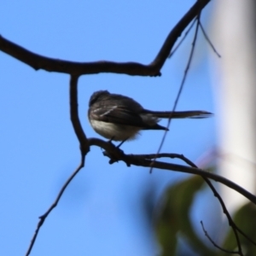
<svg viewBox="0 0 256 256">
<path fill-rule="evenodd" d="M 217 0 L 212 14 L 215 59 L 213 88 L 218 121 L 220 174 L 255 193 L 256 182 L 256 3 Z M 217 67 L 217 68 L 216 68 Z M 246 200 L 221 186 L 232 212 Z"/>
</svg>

